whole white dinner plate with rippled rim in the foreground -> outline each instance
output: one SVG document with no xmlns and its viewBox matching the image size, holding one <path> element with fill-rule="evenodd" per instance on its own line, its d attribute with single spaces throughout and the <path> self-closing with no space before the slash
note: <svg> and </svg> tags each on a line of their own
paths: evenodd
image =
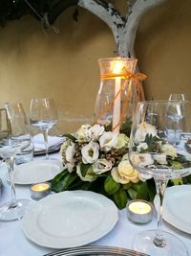
<svg viewBox="0 0 191 256">
<path fill-rule="evenodd" d="M 33 243 L 51 248 L 89 244 L 106 235 L 117 222 L 117 206 L 90 191 L 66 191 L 39 200 L 23 218 Z"/>
</svg>

